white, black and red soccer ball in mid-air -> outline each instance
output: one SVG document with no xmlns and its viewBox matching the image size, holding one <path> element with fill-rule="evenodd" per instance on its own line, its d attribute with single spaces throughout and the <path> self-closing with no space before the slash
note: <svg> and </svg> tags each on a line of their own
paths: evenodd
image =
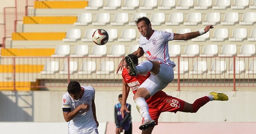
<svg viewBox="0 0 256 134">
<path fill-rule="evenodd" d="M 97 29 L 93 33 L 93 42 L 97 45 L 104 45 L 108 42 L 108 32 L 104 29 Z"/>
</svg>

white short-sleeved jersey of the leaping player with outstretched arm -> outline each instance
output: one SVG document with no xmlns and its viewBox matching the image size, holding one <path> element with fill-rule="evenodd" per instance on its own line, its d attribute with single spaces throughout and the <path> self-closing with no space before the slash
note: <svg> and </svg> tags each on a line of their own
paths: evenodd
<svg viewBox="0 0 256 134">
<path fill-rule="evenodd" d="M 148 60 L 159 60 L 175 67 L 175 63 L 170 60 L 168 50 L 168 41 L 173 39 L 173 33 L 155 30 L 149 39 L 139 37 L 139 47 L 143 49 Z"/>
</svg>

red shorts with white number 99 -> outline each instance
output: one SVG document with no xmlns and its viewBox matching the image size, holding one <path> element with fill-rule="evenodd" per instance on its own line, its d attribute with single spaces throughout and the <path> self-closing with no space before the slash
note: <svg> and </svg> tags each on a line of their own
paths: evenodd
<svg viewBox="0 0 256 134">
<path fill-rule="evenodd" d="M 184 108 L 184 100 L 176 97 L 168 96 L 161 98 L 157 103 L 149 104 L 149 114 L 152 120 L 156 121 L 158 125 L 158 118 L 161 112 L 178 112 Z M 142 123 L 144 119 L 142 119 Z"/>
</svg>

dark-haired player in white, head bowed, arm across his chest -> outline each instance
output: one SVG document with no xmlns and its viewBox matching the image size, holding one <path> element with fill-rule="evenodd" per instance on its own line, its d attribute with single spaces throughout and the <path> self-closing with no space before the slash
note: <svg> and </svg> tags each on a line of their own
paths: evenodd
<svg viewBox="0 0 256 134">
<path fill-rule="evenodd" d="M 71 81 L 67 91 L 62 97 L 62 111 L 65 121 L 69 122 L 69 134 L 98 134 L 95 89 Z"/>
</svg>

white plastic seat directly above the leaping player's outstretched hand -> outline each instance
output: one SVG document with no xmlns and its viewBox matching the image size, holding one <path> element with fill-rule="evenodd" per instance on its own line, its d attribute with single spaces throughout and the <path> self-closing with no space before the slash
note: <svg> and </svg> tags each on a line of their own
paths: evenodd
<svg viewBox="0 0 256 134">
<path fill-rule="evenodd" d="M 216 25 L 221 21 L 221 14 L 219 12 L 208 12 L 206 14 L 205 22 L 203 25 Z"/>
</svg>

